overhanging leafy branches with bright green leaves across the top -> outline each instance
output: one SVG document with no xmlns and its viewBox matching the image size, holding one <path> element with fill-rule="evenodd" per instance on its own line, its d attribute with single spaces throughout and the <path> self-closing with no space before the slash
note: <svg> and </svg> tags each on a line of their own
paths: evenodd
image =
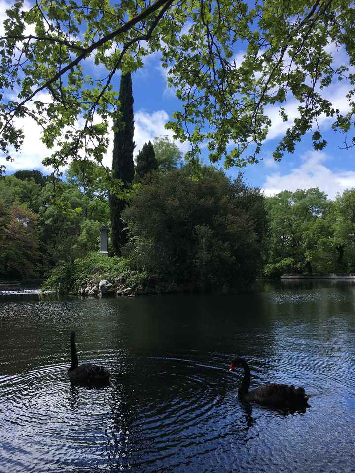
<svg viewBox="0 0 355 473">
<path fill-rule="evenodd" d="M 322 149 L 321 115 L 344 132 L 353 125 L 354 24 L 349 0 L 39 0 L 30 9 L 17 0 L 0 38 L 1 152 L 11 159 L 20 148 L 18 119 L 29 116 L 43 127 L 47 147 L 55 146 L 46 165 L 59 169 L 83 156 L 100 163 L 119 107 L 112 77 L 142 68 L 154 53 L 182 103 L 168 128 L 190 142 L 189 157 L 208 141 L 213 162 L 257 162 L 270 127 L 267 107 L 278 105 L 286 121 L 291 97 L 299 118 L 274 158 L 293 152 L 314 124 L 314 147 Z M 341 48 L 346 63 L 336 67 Z M 88 74 L 93 63 L 103 66 L 101 77 Z M 342 115 L 327 88 L 344 79 L 349 112 Z"/>
</svg>

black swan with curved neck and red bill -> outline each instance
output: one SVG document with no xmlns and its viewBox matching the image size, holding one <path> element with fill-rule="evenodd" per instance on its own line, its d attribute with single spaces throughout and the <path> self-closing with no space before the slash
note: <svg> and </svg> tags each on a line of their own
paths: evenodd
<svg viewBox="0 0 355 473">
<path fill-rule="evenodd" d="M 280 407 L 297 408 L 308 406 L 307 400 L 310 396 L 305 394 L 305 390 L 301 387 L 295 389 L 294 386 L 288 386 L 287 384 L 264 384 L 249 391 L 250 368 L 248 363 L 243 358 L 233 358 L 229 371 L 233 371 L 235 365 L 242 365 L 244 368 L 243 381 L 238 389 L 240 401 Z"/>
</svg>

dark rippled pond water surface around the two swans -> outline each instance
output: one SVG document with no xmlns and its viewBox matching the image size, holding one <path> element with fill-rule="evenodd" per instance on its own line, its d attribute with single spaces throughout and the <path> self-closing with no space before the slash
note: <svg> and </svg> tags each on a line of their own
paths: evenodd
<svg viewBox="0 0 355 473">
<path fill-rule="evenodd" d="M 48 300 L 0 294 L 0 472 L 354 472 L 355 286 L 244 295 Z M 71 386 L 79 362 L 112 383 Z M 302 385 L 305 413 L 242 405 L 252 385 Z"/>
</svg>

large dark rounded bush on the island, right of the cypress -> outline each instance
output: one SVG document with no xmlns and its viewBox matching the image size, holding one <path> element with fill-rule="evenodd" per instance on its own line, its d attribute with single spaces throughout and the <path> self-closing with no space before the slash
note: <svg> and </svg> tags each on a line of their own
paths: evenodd
<svg viewBox="0 0 355 473">
<path fill-rule="evenodd" d="M 201 289 L 248 282 L 260 270 L 264 199 L 241 174 L 151 174 L 122 215 L 130 231 L 123 252 L 138 270 Z"/>
</svg>

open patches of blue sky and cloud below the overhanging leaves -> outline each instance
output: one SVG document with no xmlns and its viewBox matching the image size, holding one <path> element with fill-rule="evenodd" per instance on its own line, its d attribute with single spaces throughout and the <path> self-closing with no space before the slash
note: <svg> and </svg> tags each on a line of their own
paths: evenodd
<svg viewBox="0 0 355 473">
<path fill-rule="evenodd" d="M 0 24 L 7 5 L 7 2 L 0 0 Z M 342 62 L 345 59 L 342 50 L 335 50 L 332 45 L 329 46 L 329 50 L 335 53 L 336 62 Z M 242 55 L 242 50 L 236 54 L 236 62 L 242 60 Z M 95 66 L 90 59 L 86 61 L 86 68 L 93 75 L 100 75 L 102 72 L 101 67 Z M 166 73 L 166 69 L 160 66 L 159 57 L 152 55 L 147 58 L 145 67 L 133 74 L 135 153 L 145 142 L 149 139 L 153 140 L 155 136 L 164 134 L 172 136 L 170 131 L 164 129 L 164 125 L 172 113 L 180 109 L 180 102 L 175 97 L 174 90 L 167 86 Z M 113 81 L 117 90 L 119 90 L 119 79 L 119 74 L 117 74 Z M 347 110 L 345 94 L 348 89 L 348 84 L 339 83 L 331 86 L 327 92 L 329 98 L 342 111 Z M 292 118 L 297 114 L 297 104 L 291 99 L 286 105 L 286 110 L 291 123 Z M 273 125 L 263 145 L 261 153 L 263 159 L 258 164 L 248 165 L 242 169 L 246 180 L 251 185 L 261 187 L 267 195 L 273 195 L 284 189 L 294 191 L 297 188 L 306 189 L 318 186 L 330 198 L 334 198 L 337 192 L 342 192 L 346 188 L 355 187 L 355 151 L 339 148 L 343 146 L 344 135 L 332 131 L 330 121 L 325 117 L 320 120 L 322 129 L 325 130 L 324 137 L 328 141 L 328 146 L 322 152 L 313 150 L 310 132 L 296 145 L 293 154 L 285 154 L 280 163 L 275 163 L 272 152 L 290 123 L 281 122 L 276 107 L 270 107 L 269 115 L 273 120 Z M 40 141 L 40 130 L 29 119 L 25 119 L 22 125 L 25 131 L 25 142 L 22 151 L 13 154 L 15 161 L 5 163 L 7 173 L 10 174 L 18 169 L 40 169 L 44 173 L 49 173 L 50 169 L 44 168 L 41 164 L 42 159 L 50 152 Z M 177 145 L 183 152 L 188 150 L 187 143 L 177 143 Z M 208 162 L 206 150 L 203 150 L 202 157 L 205 162 Z M 0 163 L 4 163 L 1 157 Z M 105 158 L 105 164 L 111 165 L 111 149 Z M 231 176 L 236 176 L 239 169 L 232 168 L 226 172 Z"/>
</svg>

